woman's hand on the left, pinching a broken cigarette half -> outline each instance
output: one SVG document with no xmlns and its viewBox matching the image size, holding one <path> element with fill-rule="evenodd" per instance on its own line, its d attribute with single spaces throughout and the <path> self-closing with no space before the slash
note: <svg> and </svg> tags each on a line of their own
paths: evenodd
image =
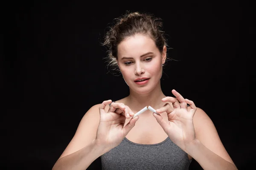
<svg viewBox="0 0 256 170">
<path fill-rule="evenodd" d="M 100 121 L 95 139 L 98 144 L 106 147 L 107 151 L 119 145 L 139 119 L 139 116 L 131 118 L 125 125 L 125 119 L 134 116 L 134 113 L 123 103 L 111 102 L 112 100 L 104 101 L 99 107 Z M 109 104 L 111 105 L 106 113 L 105 107 Z"/>
</svg>

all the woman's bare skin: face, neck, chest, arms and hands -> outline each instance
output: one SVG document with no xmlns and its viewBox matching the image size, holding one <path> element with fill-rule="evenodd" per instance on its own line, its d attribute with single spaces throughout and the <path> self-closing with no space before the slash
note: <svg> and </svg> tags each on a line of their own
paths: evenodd
<svg viewBox="0 0 256 170">
<path fill-rule="evenodd" d="M 165 60 L 166 46 L 160 52 L 145 34 L 123 40 L 118 45 L 117 63 L 130 88 L 129 96 L 113 103 L 106 100 L 90 108 L 53 169 L 86 169 L 125 137 L 140 144 L 155 144 L 169 137 L 205 170 L 237 170 L 209 116 L 175 90 L 172 90 L 175 97 L 163 94 L 160 78 Z M 150 79 L 145 85 L 137 85 L 134 79 L 140 77 Z M 146 105 L 160 115 L 145 111 L 132 118 Z"/>
</svg>

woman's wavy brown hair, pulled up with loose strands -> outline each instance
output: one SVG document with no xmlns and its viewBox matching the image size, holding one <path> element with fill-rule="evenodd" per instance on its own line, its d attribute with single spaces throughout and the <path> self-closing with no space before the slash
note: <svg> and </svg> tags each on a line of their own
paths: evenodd
<svg viewBox="0 0 256 170">
<path fill-rule="evenodd" d="M 104 42 L 102 45 L 108 47 L 109 64 L 113 70 L 118 70 L 117 65 L 117 46 L 122 40 L 136 34 L 147 34 L 154 40 L 157 48 L 162 53 L 163 46 L 166 45 L 164 32 L 162 31 L 163 23 L 160 18 L 155 18 L 152 14 L 147 13 L 126 13 L 125 15 L 116 19 L 116 23 L 110 27 L 109 31 L 105 34 Z"/>
</svg>

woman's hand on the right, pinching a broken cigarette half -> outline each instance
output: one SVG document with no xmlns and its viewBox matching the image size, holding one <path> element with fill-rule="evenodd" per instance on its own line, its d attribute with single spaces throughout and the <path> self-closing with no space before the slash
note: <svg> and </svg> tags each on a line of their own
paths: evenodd
<svg viewBox="0 0 256 170">
<path fill-rule="evenodd" d="M 162 108 L 157 109 L 157 113 L 167 113 L 168 122 L 162 116 L 153 113 L 157 122 L 161 125 L 163 130 L 167 133 L 169 138 L 177 144 L 182 150 L 186 151 L 186 146 L 195 142 L 195 129 L 193 125 L 193 117 L 195 115 L 196 107 L 194 102 L 184 99 L 177 91 L 172 90 L 175 97 L 165 97 L 163 102 L 172 102 L 173 108 L 169 103 L 166 103 Z M 187 104 L 191 109 L 188 111 Z"/>
</svg>

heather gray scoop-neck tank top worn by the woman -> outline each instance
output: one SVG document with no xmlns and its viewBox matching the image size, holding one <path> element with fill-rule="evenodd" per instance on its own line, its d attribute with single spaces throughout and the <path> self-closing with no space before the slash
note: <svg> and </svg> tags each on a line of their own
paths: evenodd
<svg viewBox="0 0 256 170">
<path fill-rule="evenodd" d="M 101 156 L 102 170 L 188 170 L 188 154 L 167 137 L 158 144 L 137 144 L 127 138 Z"/>
</svg>

